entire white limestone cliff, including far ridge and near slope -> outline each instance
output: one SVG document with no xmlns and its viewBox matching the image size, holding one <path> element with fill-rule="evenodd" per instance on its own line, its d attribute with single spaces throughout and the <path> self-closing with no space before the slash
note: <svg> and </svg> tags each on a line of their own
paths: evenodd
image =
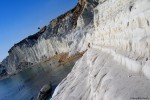
<svg viewBox="0 0 150 100">
<path fill-rule="evenodd" d="M 85 51 L 52 100 L 150 99 L 150 0 L 80 0 L 38 38 L 15 45 L 2 62 L 8 73 L 55 53 Z"/>
</svg>

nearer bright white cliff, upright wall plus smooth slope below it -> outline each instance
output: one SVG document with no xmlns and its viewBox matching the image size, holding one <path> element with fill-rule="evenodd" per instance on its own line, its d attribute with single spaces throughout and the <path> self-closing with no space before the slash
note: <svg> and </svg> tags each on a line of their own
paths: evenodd
<svg viewBox="0 0 150 100">
<path fill-rule="evenodd" d="M 149 100 L 150 1 L 98 1 L 94 28 L 86 27 L 91 49 L 52 100 Z"/>
</svg>

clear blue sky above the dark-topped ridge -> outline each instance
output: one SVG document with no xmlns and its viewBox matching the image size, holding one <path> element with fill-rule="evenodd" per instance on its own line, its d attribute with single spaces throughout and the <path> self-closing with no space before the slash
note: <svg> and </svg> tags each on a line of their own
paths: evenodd
<svg viewBox="0 0 150 100">
<path fill-rule="evenodd" d="M 0 0 L 0 61 L 38 27 L 70 10 L 78 0 Z"/>
</svg>

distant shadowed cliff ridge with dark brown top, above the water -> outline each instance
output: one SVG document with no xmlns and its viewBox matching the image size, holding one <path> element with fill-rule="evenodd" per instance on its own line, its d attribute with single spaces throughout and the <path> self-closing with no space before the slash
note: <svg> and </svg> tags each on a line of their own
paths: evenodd
<svg viewBox="0 0 150 100">
<path fill-rule="evenodd" d="M 1 75 L 4 72 L 13 74 L 55 54 L 75 49 L 72 47 L 80 43 L 85 35 L 75 37 L 79 34 L 77 30 L 91 23 L 95 5 L 95 1 L 80 0 L 75 8 L 52 20 L 36 34 L 15 44 L 0 65 Z M 82 23 L 77 23 L 80 20 Z"/>
</svg>

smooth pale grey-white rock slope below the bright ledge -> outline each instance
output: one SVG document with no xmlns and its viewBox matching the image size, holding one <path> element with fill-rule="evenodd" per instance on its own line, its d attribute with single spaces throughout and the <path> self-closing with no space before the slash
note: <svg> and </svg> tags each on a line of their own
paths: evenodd
<svg viewBox="0 0 150 100">
<path fill-rule="evenodd" d="M 106 50 L 89 49 L 51 100 L 149 100 L 150 81 L 128 71 Z"/>
</svg>

